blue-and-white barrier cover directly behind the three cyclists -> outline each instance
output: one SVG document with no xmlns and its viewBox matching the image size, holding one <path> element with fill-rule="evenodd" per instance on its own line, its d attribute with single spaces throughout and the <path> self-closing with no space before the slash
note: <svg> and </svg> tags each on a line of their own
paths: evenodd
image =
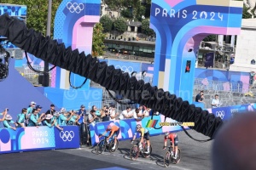
<svg viewBox="0 0 256 170">
<path fill-rule="evenodd" d="M 90 124 L 90 138 L 91 144 L 96 145 L 101 139 L 99 139 L 99 134 L 102 134 L 107 129 L 108 125 L 115 124 L 119 127 L 119 141 L 132 139 L 134 133 L 136 132 L 137 124 L 142 125 L 148 129 L 150 136 L 160 135 L 163 133 L 169 132 L 177 132 L 183 131 L 183 128 L 180 126 L 163 126 L 160 128 L 160 122 L 165 122 L 165 116 L 159 115 L 154 116 L 151 119 L 151 116 L 143 118 L 141 121 L 137 121 L 137 119 L 124 119 L 124 120 L 115 120 L 115 121 L 108 121 L 108 122 L 98 122 L 96 124 Z M 176 122 L 171 118 L 166 118 L 166 122 Z M 188 127 L 186 127 L 188 128 Z M 108 134 L 106 134 L 108 135 Z M 139 137 L 139 133 L 137 133 L 137 138 Z"/>
</svg>

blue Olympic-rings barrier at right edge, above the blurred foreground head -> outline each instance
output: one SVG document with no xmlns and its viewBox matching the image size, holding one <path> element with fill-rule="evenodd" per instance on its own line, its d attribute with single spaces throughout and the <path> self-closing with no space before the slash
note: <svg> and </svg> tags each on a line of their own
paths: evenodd
<svg viewBox="0 0 256 170">
<path fill-rule="evenodd" d="M 213 108 L 208 111 L 215 116 L 219 116 L 223 121 L 228 121 L 236 116 L 236 114 L 256 111 L 256 104 L 232 105 L 229 107 Z"/>
</svg>

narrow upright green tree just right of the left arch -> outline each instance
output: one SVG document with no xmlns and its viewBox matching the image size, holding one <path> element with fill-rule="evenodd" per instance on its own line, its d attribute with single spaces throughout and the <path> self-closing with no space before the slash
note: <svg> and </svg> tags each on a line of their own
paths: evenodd
<svg viewBox="0 0 256 170">
<path fill-rule="evenodd" d="M 99 56 L 104 54 L 104 39 L 106 35 L 103 33 L 103 27 L 101 23 L 96 23 L 93 28 L 92 37 L 92 56 Z"/>
</svg>

